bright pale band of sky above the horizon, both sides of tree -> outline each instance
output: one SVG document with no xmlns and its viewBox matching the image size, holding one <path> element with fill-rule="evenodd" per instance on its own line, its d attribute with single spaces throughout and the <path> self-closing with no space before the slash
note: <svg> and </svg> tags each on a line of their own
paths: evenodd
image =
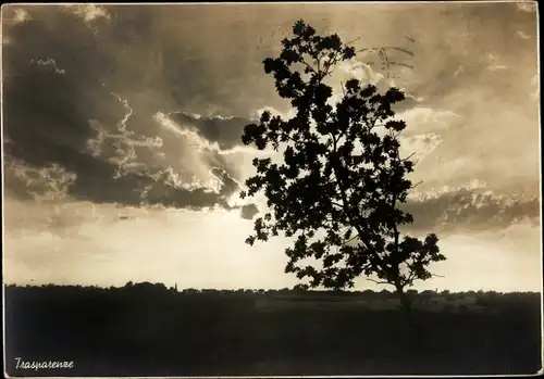
<svg viewBox="0 0 544 379">
<path fill-rule="evenodd" d="M 33 211 L 36 222 L 40 214 L 51 215 L 44 205 Z M 7 212 L 23 215 L 28 209 L 7 202 Z M 137 278 L 177 282 L 181 288 L 231 289 L 295 283 L 283 274 L 286 257 L 282 251 L 288 241 L 276 238 L 255 249 L 245 245 L 252 224 L 237 213 L 82 203 L 65 205 L 61 212 L 60 224 L 40 220 L 33 225 L 25 218 L 21 224 L 26 229 L 7 230 L 4 257 L 10 269 L 4 270 L 4 280 L 122 286 Z M 504 230 L 498 238 L 485 231 L 445 236 L 441 250 L 448 261 L 433 267 L 434 274 L 445 278 L 416 288 L 461 291 L 492 286 L 498 291 L 537 291 L 540 268 L 530 251 L 539 239 L 540 228 L 527 224 Z M 504 254 L 506 250 L 511 254 Z M 380 287 L 361 279 L 358 288 Z"/>
</svg>

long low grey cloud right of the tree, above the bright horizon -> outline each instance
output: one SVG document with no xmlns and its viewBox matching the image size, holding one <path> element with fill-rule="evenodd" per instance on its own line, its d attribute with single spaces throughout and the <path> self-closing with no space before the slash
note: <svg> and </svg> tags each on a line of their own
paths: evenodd
<svg viewBox="0 0 544 379">
<path fill-rule="evenodd" d="M 413 232 L 470 233 L 506 229 L 515 224 L 540 224 L 539 198 L 497 195 L 485 188 L 459 188 L 410 199 L 403 210 L 413 216 Z"/>
</svg>

